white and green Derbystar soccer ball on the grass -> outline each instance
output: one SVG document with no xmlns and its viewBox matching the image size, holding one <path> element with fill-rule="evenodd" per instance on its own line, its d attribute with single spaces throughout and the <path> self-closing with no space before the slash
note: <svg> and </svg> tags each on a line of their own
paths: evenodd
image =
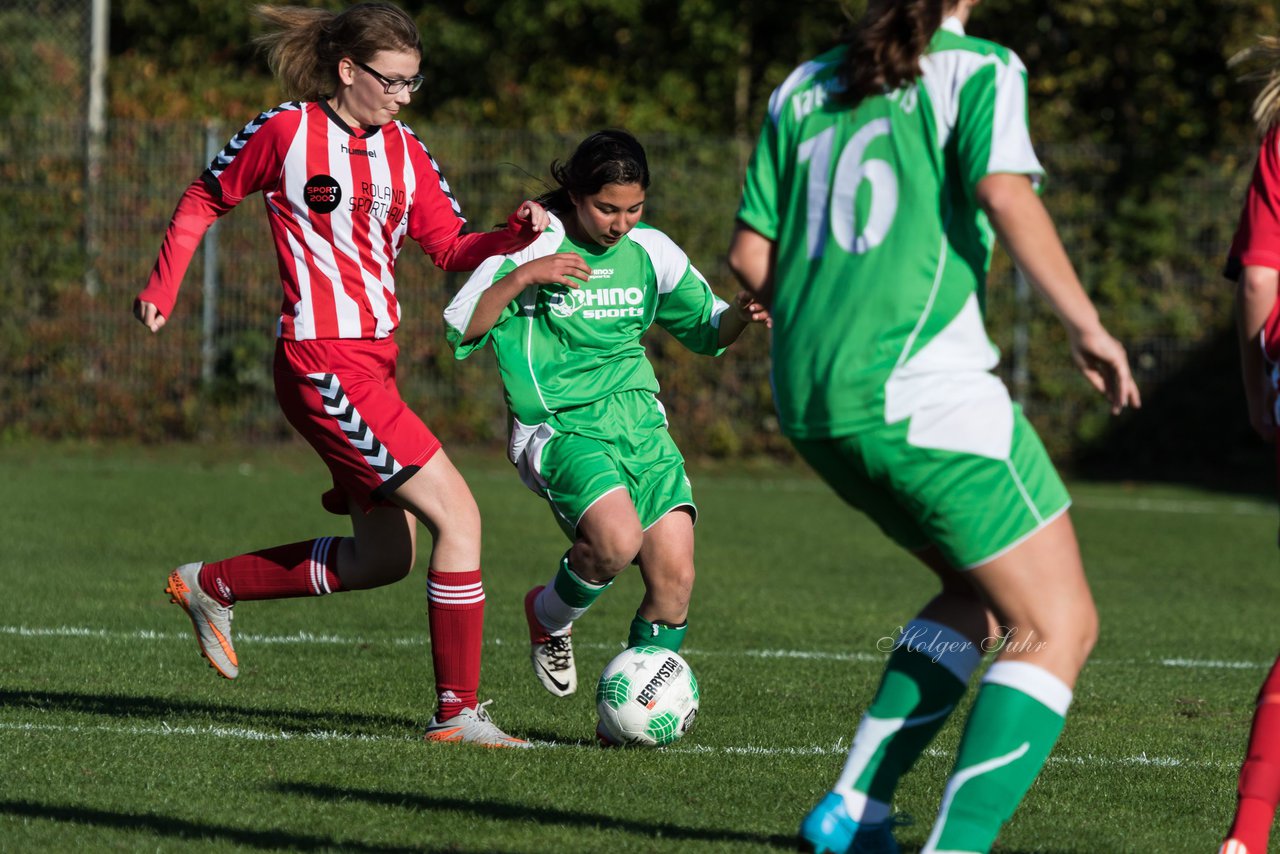
<svg viewBox="0 0 1280 854">
<path fill-rule="evenodd" d="M 698 680 L 689 662 L 662 647 L 632 647 L 611 661 L 595 688 L 596 735 L 611 745 L 671 744 L 698 717 Z"/>
</svg>

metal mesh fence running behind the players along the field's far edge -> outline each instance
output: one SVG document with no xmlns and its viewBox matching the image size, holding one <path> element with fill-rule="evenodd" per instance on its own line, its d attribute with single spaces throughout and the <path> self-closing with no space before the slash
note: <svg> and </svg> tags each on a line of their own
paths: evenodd
<svg viewBox="0 0 1280 854">
<path fill-rule="evenodd" d="M 0 209 L 0 257 L 10 271 L 0 286 L 0 394 L 17 401 L 6 407 L 4 434 L 284 435 L 269 374 L 280 289 L 261 202 L 250 200 L 220 220 L 163 333 L 152 337 L 129 316 L 174 202 L 236 128 L 113 122 L 93 204 L 83 193 L 81 127 L 0 123 L 0 179 L 9 196 Z M 424 131 L 477 228 L 502 222 L 521 198 L 544 189 L 550 160 L 567 156 L 579 138 Z M 731 293 L 723 254 L 746 143 L 644 141 L 654 172 L 646 218 L 689 251 L 722 294 Z M 1176 197 L 1161 201 L 1161 210 L 1176 213 L 1169 245 L 1117 247 L 1107 243 L 1116 215 L 1105 196 L 1114 179 L 1108 154 L 1046 146 L 1042 157 L 1052 175 L 1046 198 L 1064 239 L 1103 310 L 1111 306 L 1108 325 L 1123 334 L 1152 391 L 1228 321 L 1230 288 L 1217 269 L 1247 175 L 1206 172 L 1183 182 Z M 102 223 L 96 257 L 83 245 L 87 209 Z M 84 287 L 87 266 L 96 270 L 97 293 Z M 454 362 L 440 332 L 443 305 L 460 283 L 415 247 L 402 255 L 402 387 L 443 435 L 488 440 L 504 429 L 495 371 L 484 359 Z M 1057 324 L 1039 301 L 1019 297 L 1000 257 L 987 310 L 1006 376 L 1055 451 L 1098 434 L 1105 411 L 1070 366 Z M 749 330 L 722 360 L 686 353 L 662 333 L 650 338 L 673 426 L 692 447 L 718 455 L 782 447 L 764 334 Z"/>
</svg>

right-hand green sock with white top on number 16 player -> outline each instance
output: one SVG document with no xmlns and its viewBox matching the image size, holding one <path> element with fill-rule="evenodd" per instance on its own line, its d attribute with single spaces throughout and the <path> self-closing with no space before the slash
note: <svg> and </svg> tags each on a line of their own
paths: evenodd
<svg viewBox="0 0 1280 854">
<path fill-rule="evenodd" d="M 1071 689 L 1043 667 L 992 665 L 920 854 L 991 850 L 1053 749 L 1070 704 Z"/>
</svg>

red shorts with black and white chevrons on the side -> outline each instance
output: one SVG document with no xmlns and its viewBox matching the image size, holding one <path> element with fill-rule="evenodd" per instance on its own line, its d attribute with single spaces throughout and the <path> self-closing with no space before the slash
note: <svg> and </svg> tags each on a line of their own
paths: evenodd
<svg viewBox="0 0 1280 854">
<path fill-rule="evenodd" d="M 392 338 L 278 339 L 275 397 L 293 429 L 333 475 L 321 499 L 332 513 L 390 506 L 396 488 L 440 449 L 396 388 Z"/>
</svg>

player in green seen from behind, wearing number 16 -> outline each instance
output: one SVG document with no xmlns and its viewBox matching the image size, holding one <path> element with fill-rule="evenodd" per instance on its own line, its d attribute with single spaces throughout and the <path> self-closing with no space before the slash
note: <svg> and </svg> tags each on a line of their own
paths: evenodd
<svg viewBox="0 0 1280 854">
<path fill-rule="evenodd" d="M 1097 634 L 1066 489 L 992 374 L 993 236 L 1112 412 L 1139 396 L 1037 195 L 1023 64 L 965 35 L 974 5 L 870 0 L 844 45 L 791 73 L 730 251 L 772 312 L 782 430 L 941 580 L 892 639 L 844 772 L 801 823 L 810 850 L 897 851 L 897 781 L 959 705 L 983 640 L 1002 634 L 923 848 L 989 850 Z"/>
</svg>

